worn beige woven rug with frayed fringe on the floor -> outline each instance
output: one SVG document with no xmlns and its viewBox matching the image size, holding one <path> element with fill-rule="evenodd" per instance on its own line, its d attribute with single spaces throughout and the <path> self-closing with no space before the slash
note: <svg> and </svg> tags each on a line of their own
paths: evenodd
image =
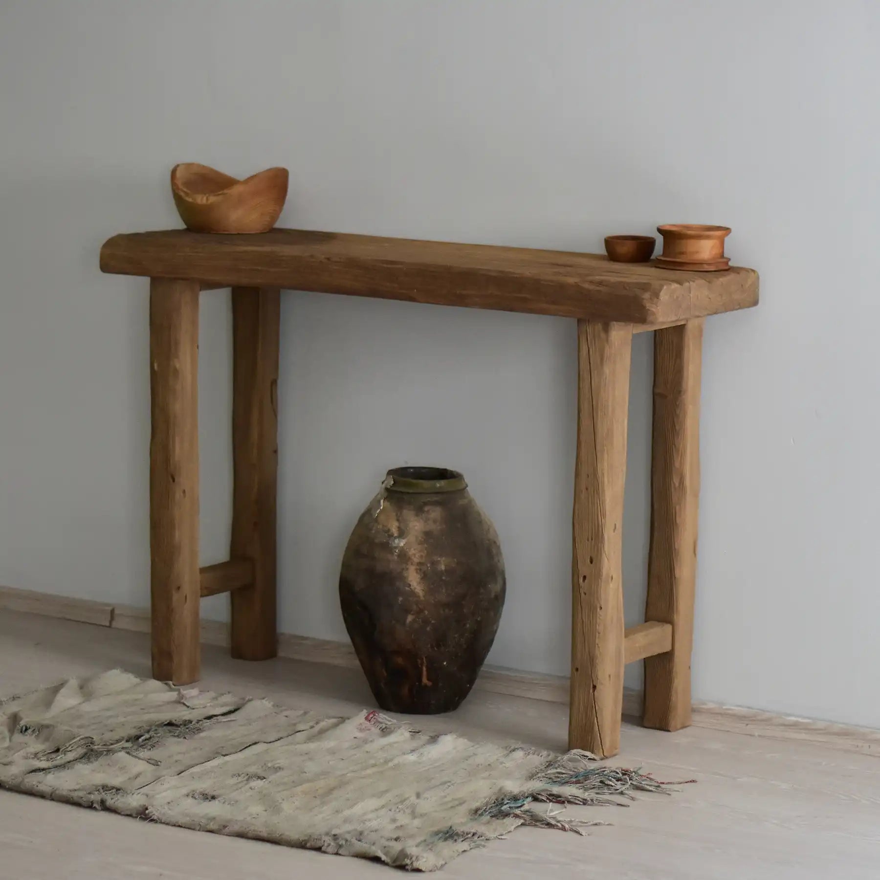
<svg viewBox="0 0 880 880">
<path fill-rule="evenodd" d="M 664 783 L 586 752 L 472 743 L 376 711 L 322 718 L 119 670 L 0 703 L 0 787 L 166 825 L 434 870 L 560 804 Z"/>
</svg>

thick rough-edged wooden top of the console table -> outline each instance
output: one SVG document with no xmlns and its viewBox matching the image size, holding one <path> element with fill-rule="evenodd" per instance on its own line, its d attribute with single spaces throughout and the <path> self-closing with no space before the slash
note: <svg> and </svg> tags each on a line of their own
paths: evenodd
<svg viewBox="0 0 880 880">
<path fill-rule="evenodd" d="M 662 324 L 758 303 L 758 273 L 679 272 L 612 263 L 595 253 L 275 229 L 260 235 L 186 230 L 116 235 L 101 270 L 464 305 L 634 324 Z"/>
</svg>

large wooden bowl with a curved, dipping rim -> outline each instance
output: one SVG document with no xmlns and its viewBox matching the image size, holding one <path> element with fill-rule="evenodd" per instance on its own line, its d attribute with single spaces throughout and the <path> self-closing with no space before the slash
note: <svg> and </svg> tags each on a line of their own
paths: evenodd
<svg viewBox="0 0 880 880">
<path fill-rule="evenodd" d="M 287 198 L 286 168 L 267 168 L 246 180 L 185 162 L 174 165 L 171 189 L 180 219 L 194 232 L 267 232 Z"/>
</svg>

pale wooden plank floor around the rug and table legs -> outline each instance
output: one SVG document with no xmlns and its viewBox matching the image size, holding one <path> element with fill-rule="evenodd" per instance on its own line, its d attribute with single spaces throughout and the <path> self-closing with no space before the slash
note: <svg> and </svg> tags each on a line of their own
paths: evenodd
<svg viewBox="0 0 880 880">
<path fill-rule="evenodd" d="M 120 666 L 149 674 L 146 636 L 0 612 L 0 696 Z M 359 671 L 293 660 L 248 664 L 205 649 L 202 687 L 348 715 L 371 705 Z M 473 694 L 422 728 L 562 749 L 565 708 Z M 439 876 L 761 880 L 880 877 L 880 760 L 811 743 L 691 728 L 675 734 L 625 725 L 612 763 L 659 779 L 696 777 L 672 796 L 628 809 L 572 810 L 613 823 L 588 837 L 522 828 L 451 862 Z M 290 880 L 391 877 L 341 856 L 137 822 L 0 792 L 0 876 L 64 880 Z"/>
</svg>

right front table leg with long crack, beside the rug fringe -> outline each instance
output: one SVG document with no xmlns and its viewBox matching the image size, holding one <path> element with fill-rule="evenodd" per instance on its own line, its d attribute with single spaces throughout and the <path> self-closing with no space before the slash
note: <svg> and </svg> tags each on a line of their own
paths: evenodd
<svg viewBox="0 0 880 880">
<path fill-rule="evenodd" d="M 620 749 L 623 699 L 621 535 L 633 329 L 577 322 L 568 747 Z"/>
</svg>

